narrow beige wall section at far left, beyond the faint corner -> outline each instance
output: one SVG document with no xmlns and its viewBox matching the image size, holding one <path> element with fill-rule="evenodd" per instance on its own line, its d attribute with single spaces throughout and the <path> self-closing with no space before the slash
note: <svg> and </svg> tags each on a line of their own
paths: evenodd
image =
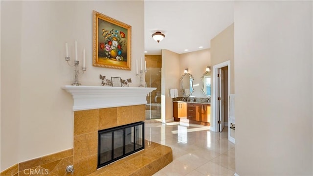
<svg viewBox="0 0 313 176">
<path fill-rule="evenodd" d="M 22 4 L 18 1 L 0 1 L 0 4 L 0 171 L 3 171 L 19 162 L 18 150 L 21 146 L 18 138 L 21 113 L 22 24 L 17 21 L 22 18 Z"/>
</svg>

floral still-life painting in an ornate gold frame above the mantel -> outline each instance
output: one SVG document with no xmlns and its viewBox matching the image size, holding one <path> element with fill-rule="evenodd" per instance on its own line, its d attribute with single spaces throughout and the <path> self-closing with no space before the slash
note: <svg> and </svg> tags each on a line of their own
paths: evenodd
<svg viewBox="0 0 313 176">
<path fill-rule="evenodd" d="M 131 70 L 132 26 L 93 11 L 92 66 Z"/>
</svg>

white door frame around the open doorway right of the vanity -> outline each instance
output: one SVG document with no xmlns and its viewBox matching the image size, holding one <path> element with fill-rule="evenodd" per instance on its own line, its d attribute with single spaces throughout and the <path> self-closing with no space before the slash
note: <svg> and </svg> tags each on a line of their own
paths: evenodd
<svg viewBox="0 0 313 176">
<path fill-rule="evenodd" d="M 228 95 L 230 94 L 230 61 L 226 61 L 226 62 L 223 62 L 223 63 L 220 63 L 220 64 L 217 64 L 215 66 L 213 66 L 213 83 L 212 83 L 212 87 L 214 88 L 212 92 L 212 95 L 211 95 L 211 110 L 213 111 L 212 112 L 212 116 L 211 116 L 211 125 L 210 125 L 210 130 L 213 131 L 213 132 L 218 132 L 218 120 L 219 120 L 219 116 L 218 116 L 218 106 L 217 104 L 219 103 L 218 100 L 217 100 L 217 96 L 218 96 L 218 80 L 217 80 L 217 74 L 218 74 L 218 69 L 219 68 L 222 68 L 224 66 L 228 66 Z M 212 88 L 211 87 L 211 88 Z M 226 98 L 226 97 L 224 97 Z M 227 97 L 228 98 L 228 97 Z M 224 107 L 225 108 L 225 107 Z M 228 107 L 227 107 L 227 110 L 228 110 Z M 228 114 L 228 118 L 229 118 L 229 114 Z M 228 130 L 228 139 L 229 139 L 229 130 Z"/>
</svg>

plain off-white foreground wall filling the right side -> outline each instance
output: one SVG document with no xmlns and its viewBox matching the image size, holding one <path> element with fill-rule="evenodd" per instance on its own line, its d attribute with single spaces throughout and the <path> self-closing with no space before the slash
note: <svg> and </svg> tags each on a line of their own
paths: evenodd
<svg viewBox="0 0 313 176">
<path fill-rule="evenodd" d="M 313 175 L 312 1 L 235 1 L 236 173 Z"/>
</svg>

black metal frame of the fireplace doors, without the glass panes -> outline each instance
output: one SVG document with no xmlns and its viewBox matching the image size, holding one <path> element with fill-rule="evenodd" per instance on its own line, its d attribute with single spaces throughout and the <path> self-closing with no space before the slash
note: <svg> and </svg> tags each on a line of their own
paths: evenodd
<svg viewBox="0 0 313 176">
<path fill-rule="evenodd" d="M 136 147 L 135 147 L 135 145 L 136 145 L 136 143 L 134 142 L 134 150 L 132 151 L 132 152 L 129 152 L 129 153 L 127 153 L 127 154 L 125 154 L 125 135 L 126 135 L 126 133 L 125 133 L 125 129 L 127 129 L 127 128 L 131 128 L 131 127 L 134 127 L 134 129 L 135 129 L 135 126 L 140 126 L 140 125 L 142 125 L 142 147 L 140 147 L 140 148 L 138 148 L 138 149 L 136 149 Z M 123 158 L 123 157 L 125 157 L 125 156 L 128 156 L 128 155 L 130 155 L 130 154 L 134 154 L 135 152 L 138 152 L 138 151 L 140 151 L 140 150 L 143 150 L 144 148 L 145 148 L 145 132 L 144 132 L 144 128 L 145 128 L 145 123 L 144 122 L 135 122 L 135 123 L 132 123 L 132 124 L 127 124 L 127 125 L 122 125 L 122 126 L 118 126 L 118 127 L 113 127 L 113 128 L 110 128 L 110 129 L 104 129 L 104 130 L 100 130 L 100 131 L 98 131 L 98 164 L 97 164 L 97 166 L 98 166 L 98 168 L 100 168 L 100 167 L 103 167 L 103 166 L 105 166 L 105 165 L 108 165 L 108 164 L 110 164 L 110 163 L 112 163 L 112 162 L 114 162 L 114 161 L 117 161 L 117 160 L 119 160 L 119 159 L 121 159 L 121 158 Z M 114 150 L 113 150 L 113 145 L 114 145 L 114 131 L 118 131 L 118 130 L 123 130 L 123 155 L 121 155 L 121 156 L 119 156 L 119 157 L 116 157 L 116 158 L 113 158 L 114 157 L 114 154 L 113 154 L 113 152 L 114 152 Z M 109 160 L 109 161 L 107 161 L 107 162 L 104 162 L 104 163 L 100 163 L 101 161 L 100 161 L 100 145 L 101 145 L 101 143 L 100 143 L 100 138 L 101 138 L 101 134 L 103 134 L 103 133 L 108 133 L 108 132 L 112 132 L 112 153 L 111 153 L 111 160 Z M 134 132 L 134 141 L 135 141 L 135 139 L 136 139 L 136 132 Z"/>
</svg>

